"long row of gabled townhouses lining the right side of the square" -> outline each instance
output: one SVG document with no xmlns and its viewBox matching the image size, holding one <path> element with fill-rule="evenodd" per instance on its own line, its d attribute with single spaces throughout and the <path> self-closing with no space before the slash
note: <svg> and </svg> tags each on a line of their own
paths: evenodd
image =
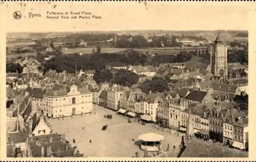
<svg viewBox="0 0 256 162">
<path fill-rule="evenodd" d="M 248 119 L 238 109 L 229 109 L 229 107 L 238 107 L 236 102 L 220 101 L 220 98 L 214 100 L 210 91 L 194 90 L 186 92 L 185 95 L 181 95 L 182 97 L 178 93 L 180 90 L 176 91 L 176 95 L 171 92 L 144 94 L 139 89 L 131 90 L 118 85 L 110 88 L 107 85 L 101 86 L 97 97 L 94 95 L 94 103 L 105 104 L 105 107 L 115 111 L 124 110 L 123 113 L 133 112 L 142 115 L 142 119 L 144 117 L 146 120 L 157 122 L 161 127 L 172 129 L 179 127 L 183 131 L 186 131 L 190 111 L 195 133 L 207 135 L 211 139 L 233 147 L 238 147 L 239 143 L 241 144 L 239 148 L 248 148 L 248 128 L 246 126 Z M 230 130 L 226 130 L 230 128 L 230 114 L 234 114 L 232 118 L 235 118 L 231 125 L 239 127 L 232 129 L 236 130 L 237 136 L 234 131 L 231 134 Z M 239 132 L 244 134 L 238 136 Z"/>
</svg>

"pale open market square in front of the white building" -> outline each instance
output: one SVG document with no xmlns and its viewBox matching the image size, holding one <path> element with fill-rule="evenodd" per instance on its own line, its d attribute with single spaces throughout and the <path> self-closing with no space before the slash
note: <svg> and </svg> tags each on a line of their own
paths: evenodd
<svg viewBox="0 0 256 162">
<path fill-rule="evenodd" d="M 140 150 L 135 141 L 138 140 L 140 134 L 151 131 L 165 137 L 163 150 L 166 149 L 168 143 L 172 148 L 173 146 L 178 147 L 181 142 L 181 136 L 174 134 L 175 130 L 169 133 L 155 129 L 153 125 L 141 125 L 137 122 L 128 123 L 125 117 L 117 116 L 115 112 L 97 105 L 94 106 L 96 114 L 67 117 L 64 120 L 49 119 L 53 132 L 66 134 L 65 137 L 72 143 L 72 146 L 77 146 L 79 152 L 88 157 L 131 157 L 137 151 L 141 157 L 144 151 Z M 105 114 L 112 114 L 113 118 L 103 118 Z M 105 124 L 108 125 L 108 128 L 102 131 L 101 128 Z M 132 141 L 133 138 L 135 141 Z M 72 139 L 75 139 L 75 144 L 73 144 Z M 92 143 L 89 143 L 90 140 Z"/>
</svg>

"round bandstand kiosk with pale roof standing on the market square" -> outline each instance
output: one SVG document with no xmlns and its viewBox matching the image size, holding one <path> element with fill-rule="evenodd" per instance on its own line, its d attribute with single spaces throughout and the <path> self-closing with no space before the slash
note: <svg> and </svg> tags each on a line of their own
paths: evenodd
<svg viewBox="0 0 256 162">
<path fill-rule="evenodd" d="M 158 151 L 164 136 L 154 132 L 141 134 L 138 137 L 141 140 L 140 148 L 146 151 Z"/>
</svg>

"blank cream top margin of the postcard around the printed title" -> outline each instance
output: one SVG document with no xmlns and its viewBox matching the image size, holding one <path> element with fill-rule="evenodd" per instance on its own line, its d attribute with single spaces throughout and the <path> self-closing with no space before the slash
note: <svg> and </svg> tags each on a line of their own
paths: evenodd
<svg viewBox="0 0 256 162">
<path fill-rule="evenodd" d="M 56 4 L 56 6 L 55 6 Z M 175 5 L 177 4 L 177 5 Z M 178 5 L 179 4 L 179 5 Z M 247 30 L 250 5 L 188 2 L 92 2 L 5 4 L 7 32 L 71 32 L 119 30 Z M 3 7 L 3 6 L 2 6 Z M 55 7 L 55 8 L 54 8 Z M 23 17 L 13 18 L 20 11 Z M 92 12 L 102 19 L 49 20 L 46 12 Z M 29 12 L 41 14 L 29 18 Z"/>
</svg>

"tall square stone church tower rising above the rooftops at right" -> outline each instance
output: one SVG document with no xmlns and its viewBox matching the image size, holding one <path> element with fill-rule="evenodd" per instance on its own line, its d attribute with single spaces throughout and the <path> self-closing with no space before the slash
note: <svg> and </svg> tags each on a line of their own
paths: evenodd
<svg viewBox="0 0 256 162">
<path fill-rule="evenodd" d="M 211 73 L 217 78 L 227 78 L 227 46 L 220 33 L 211 48 Z"/>
</svg>

